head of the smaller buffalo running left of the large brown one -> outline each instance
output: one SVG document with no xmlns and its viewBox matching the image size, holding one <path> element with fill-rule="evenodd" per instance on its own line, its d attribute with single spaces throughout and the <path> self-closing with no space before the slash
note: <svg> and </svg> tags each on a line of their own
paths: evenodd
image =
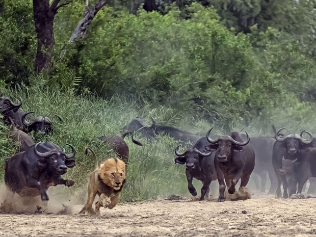
<svg viewBox="0 0 316 237">
<path fill-rule="evenodd" d="M 200 158 L 202 158 L 204 156 L 209 156 L 210 154 L 212 154 L 212 151 L 210 151 L 208 153 L 203 153 L 196 148 L 194 148 L 194 149 L 190 148 L 181 154 L 178 152 L 178 149 L 180 146 L 181 145 L 178 145 L 174 149 L 174 153 L 178 156 L 174 160 L 174 163 L 180 164 L 180 165 L 187 163 L 186 169 L 189 171 L 192 171 L 195 169 L 200 169 L 200 165 L 199 165 Z"/>
</svg>

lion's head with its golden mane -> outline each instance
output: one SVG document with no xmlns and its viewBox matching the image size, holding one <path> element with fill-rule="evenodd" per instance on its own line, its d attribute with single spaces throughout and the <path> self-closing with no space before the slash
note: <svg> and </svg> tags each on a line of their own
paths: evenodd
<svg viewBox="0 0 316 237">
<path fill-rule="evenodd" d="M 102 162 L 98 173 L 107 186 L 120 190 L 126 178 L 125 163 L 119 159 L 110 158 Z"/>
</svg>

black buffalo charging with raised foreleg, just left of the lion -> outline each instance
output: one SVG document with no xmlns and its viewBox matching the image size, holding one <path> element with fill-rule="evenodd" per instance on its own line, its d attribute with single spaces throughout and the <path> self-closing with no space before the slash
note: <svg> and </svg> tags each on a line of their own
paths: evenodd
<svg viewBox="0 0 316 237">
<path fill-rule="evenodd" d="M 46 191 L 50 186 L 73 186 L 74 181 L 65 180 L 61 176 L 67 172 L 67 168 L 75 166 L 75 160 L 70 160 L 75 155 L 75 149 L 72 145 L 67 145 L 72 149 L 70 154 L 66 154 L 63 148 L 52 142 L 39 142 L 7 159 L 7 201 L 15 193 L 22 197 L 40 195 L 42 201 L 48 201 Z"/>
</svg>

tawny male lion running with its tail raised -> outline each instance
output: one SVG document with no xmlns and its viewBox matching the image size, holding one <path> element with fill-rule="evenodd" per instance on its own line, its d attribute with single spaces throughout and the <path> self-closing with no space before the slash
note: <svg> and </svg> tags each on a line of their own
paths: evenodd
<svg viewBox="0 0 316 237">
<path fill-rule="evenodd" d="M 94 214 L 92 204 L 98 194 L 99 200 L 95 203 L 95 214 L 101 216 L 101 206 L 112 209 L 121 198 L 121 191 L 126 180 L 125 163 L 116 157 L 111 157 L 103 161 L 99 167 L 94 151 L 90 147 L 86 147 L 86 154 L 88 154 L 88 150 L 94 157 L 95 170 L 89 179 L 87 203 L 79 213 Z"/>
</svg>

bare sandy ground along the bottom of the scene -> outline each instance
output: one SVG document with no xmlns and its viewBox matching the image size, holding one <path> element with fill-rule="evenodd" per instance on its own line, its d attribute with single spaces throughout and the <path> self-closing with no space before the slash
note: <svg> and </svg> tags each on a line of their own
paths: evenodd
<svg viewBox="0 0 316 237">
<path fill-rule="evenodd" d="M 2 214 L 0 236 L 315 236 L 316 199 L 168 201 L 118 204 L 102 217 Z M 49 208 L 49 206 L 48 206 Z M 245 212 L 243 212 L 245 211 Z M 243 213 L 244 214 L 243 214 Z"/>
</svg>

